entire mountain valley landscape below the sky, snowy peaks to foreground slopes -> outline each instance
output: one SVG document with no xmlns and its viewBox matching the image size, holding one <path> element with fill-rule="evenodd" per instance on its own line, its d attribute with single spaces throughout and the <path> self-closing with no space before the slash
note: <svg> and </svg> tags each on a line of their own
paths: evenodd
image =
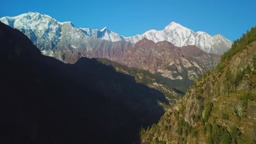
<svg viewBox="0 0 256 144">
<path fill-rule="evenodd" d="M 256 143 L 256 27 L 134 37 L 0 18 L 0 143 Z"/>
</svg>

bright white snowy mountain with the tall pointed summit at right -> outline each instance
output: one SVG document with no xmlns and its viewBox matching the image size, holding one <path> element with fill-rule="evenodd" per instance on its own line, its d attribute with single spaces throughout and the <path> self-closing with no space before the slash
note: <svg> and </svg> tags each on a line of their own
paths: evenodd
<svg viewBox="0 0 256 144">
<path fill-rule="evenodd" d="M 142 35 L 135 37 L 123 37 L 126 41 L 137 43 L 142 38 L 153 40 L 155 43 L 159 41 L 169 41 L 176 46 L 195 45 L 201 50 L 208 53 L 217 53 L 222 55 L 231 47 L 231 41 L 224 38 L 222 35 L 212 36 L 206 32 L 194 32 L 189 28 L 183 27 L 179 23 L 171 22 L 163 30 L 150 30 Z M 218 39 L 218 40 L 216 40 Z"/>
</svg>

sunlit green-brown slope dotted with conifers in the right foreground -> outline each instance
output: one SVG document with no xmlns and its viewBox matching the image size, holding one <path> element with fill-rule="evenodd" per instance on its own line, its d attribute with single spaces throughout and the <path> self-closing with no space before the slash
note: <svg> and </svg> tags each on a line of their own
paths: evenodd
<svg viewBox="0 0 256 144">
<path fill-rule="evenodd" d="M 235 41 L 216 70 L 202 76 L 142 143 L 256 142 L 256 27 Z"/>
</svg>

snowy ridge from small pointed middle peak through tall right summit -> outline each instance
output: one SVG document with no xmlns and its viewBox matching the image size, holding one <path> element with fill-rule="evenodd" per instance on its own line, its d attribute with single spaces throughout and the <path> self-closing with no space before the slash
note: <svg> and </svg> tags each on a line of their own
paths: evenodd
<svg viewBox="0 0 256 144">
<path fill-rule="evenodd" d="M 222 35 L 217 34 L 211 36 L 205 32 L 194 32 L 191 29 L 183 27 L 178 23 L 171 22 L 162 31 L 156 31 L 154 29 L 145 32 L 142 35 L 135 35 L 134 37 L 124 37 L 112 31 L 109 31 L 107 27 L 104 27 L 99 31 L 98 29 L 80 28 L 86 32 L 89 37 L 96 37 L 108 41 L 130 41 L 131 43 L 137 43 L 143 38 L 153 40 L 155 43 L 159 41 L 169 41 L 176 46 L 195 45 L 201 50 L 208 53 L 217 53 L 222 55 L 228 51 L 231 47 L 231 41 L 224 38 Z"/>
</svg>

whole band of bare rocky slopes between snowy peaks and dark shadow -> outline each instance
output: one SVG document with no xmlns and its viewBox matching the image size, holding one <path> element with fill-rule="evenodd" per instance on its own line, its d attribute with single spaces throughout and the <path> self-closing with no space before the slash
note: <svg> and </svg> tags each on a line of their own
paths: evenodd
<svg viewBox="0 0 256 144">
<path fill-rule="evenodd" d="M 88 49 L 67 49 L 57 46 L 52 54 L 66 63 L 75 63 L 80 57 L 107 58 L 127 67 L 147 70 L 176 87 L 188 88 L 203 73 L 216 67 L 220 56 L 206 53 L 196 46 L 176 47 L 168 41 L 154 43 L 146 38 L 136 44 L 125 41 L 88 42 Z M 185 89 L 182 88 L 182 91 Z"/>
</svg>

